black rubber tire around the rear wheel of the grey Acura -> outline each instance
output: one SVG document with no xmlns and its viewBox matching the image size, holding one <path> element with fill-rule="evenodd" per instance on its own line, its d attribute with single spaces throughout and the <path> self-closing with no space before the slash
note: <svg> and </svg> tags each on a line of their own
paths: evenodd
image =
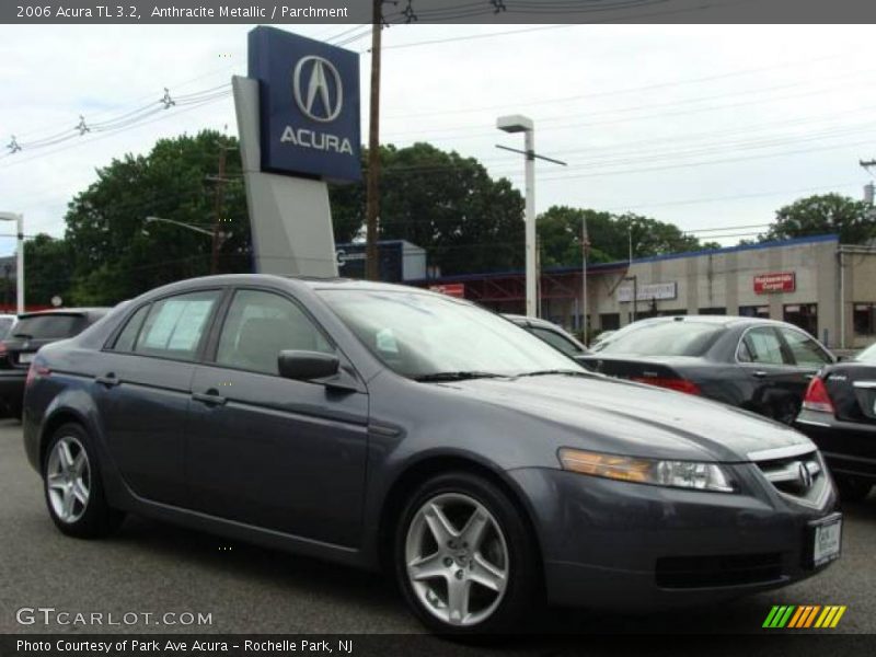
<svg viewBox="0 0 876 657">
<path fill-rule="evenodd" d="M 82 482 L 85 484 L 87 495 L 84 496 L 85 503 L 81 498 L 73 495 L 71 506 L 71 514 L 68 519 L 61 517 L 62 510 L 58 508 L 60 499 L 61 506 L 65 504 L 66 489 L 58 487 L 50 487 L 49 477 L 53 476 L 53 483 L 58 484 L 58 476 L 64 480 L 65 475 L 58 474 L 59 456 L 54 457 L 58 443 L 65 441 L 68 446 L 68 453 L 72 454 L 73 460 L 79 458 L 79 452 L 83 451 L 85 457 L 87 475 L 83 472 L 81 475 Z M 68 471 L 68 472 L 71 472 Z M 57 476 L 55 476 L 57 475 Z M 60 484 L 58 484 L 60 485 Z M 71 491 L 76 486 L 71 485 Z M 80 488 L 81 491 L 81 488 Z M 46 450 L 46 458 L 43 462 L 43 492 L 46 498 L 46 506 L 48 514 L 51 517 L 55 526 L 64 533 L 79 539 L 94 539 L 104 537 L 122 525 L 125 519 L 125 514 L 117 509 L 111 508 L 106 503 L 104 494 L 103 479 L 101 476 L 101 465 L 97 457 L 97 451 L 94 448 L 94 441 L 78 424 L 66 424 L 53 434 L 51 439 Z M 72 494 L 72 493 L 71 493 Z"/>
</svg>

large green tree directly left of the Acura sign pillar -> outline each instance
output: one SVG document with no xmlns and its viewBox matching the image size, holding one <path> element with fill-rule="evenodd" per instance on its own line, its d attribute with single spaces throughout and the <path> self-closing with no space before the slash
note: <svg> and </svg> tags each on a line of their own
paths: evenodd
<svg viewBox="0 0 876 657">
<path fill-rule="evenodd" d="M 147 155 L 127 154 L 97 170 L 97 180 L 70 203 L 66 240 L 73 254 L 72 301 L 115 303 L 150 288 L 210 272 L 209 237 L 154 216 L 207 229 L 220 149 L 226 149 L 220 272 L 250 269 L 250 228 L 237 139 L 205 130 L 162 139 Z"/>
</svg>

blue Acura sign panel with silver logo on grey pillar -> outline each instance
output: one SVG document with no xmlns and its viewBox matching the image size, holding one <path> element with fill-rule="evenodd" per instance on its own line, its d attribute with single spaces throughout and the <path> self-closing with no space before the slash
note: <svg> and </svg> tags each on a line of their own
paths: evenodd
<svg viewBox="0 0 876 657">
<path fill-rule="evenodd" d="M 274 27 L 250 32 L 262 170 L 358 181 L 359 56 Z"/>
</svg>

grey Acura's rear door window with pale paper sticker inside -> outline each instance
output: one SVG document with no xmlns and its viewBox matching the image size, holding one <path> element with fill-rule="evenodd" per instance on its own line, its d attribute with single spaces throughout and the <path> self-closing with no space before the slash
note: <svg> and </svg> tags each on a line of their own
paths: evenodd
<svg viewBox="0 0 876 657">
<path fill-rule="evenodd" d="M 220 295 L 219 290 L 210 290 L 157 301 L 146 318 L 134 350 L 147 356 L 194 360 Z"/>
</svg>

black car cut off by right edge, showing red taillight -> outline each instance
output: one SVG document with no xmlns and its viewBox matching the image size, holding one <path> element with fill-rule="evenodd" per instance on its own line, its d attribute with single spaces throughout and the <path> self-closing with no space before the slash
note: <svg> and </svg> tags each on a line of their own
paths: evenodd
<svg viewBox="0 0 876 657">
<path fill-rule="evenodd" d="M 865 498 L 876 484 L 876 345 L 822 369 L 795 426 L 821 448 L 842 497 Z"/>
</svg>

